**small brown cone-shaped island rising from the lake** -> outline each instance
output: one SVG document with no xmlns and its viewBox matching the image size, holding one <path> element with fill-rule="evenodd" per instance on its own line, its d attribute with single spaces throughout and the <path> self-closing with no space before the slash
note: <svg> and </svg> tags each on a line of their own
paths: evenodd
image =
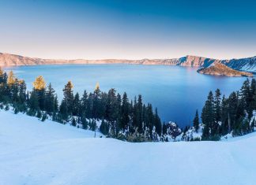
<svg viewBox="0 0 256 185">
<path fill-rule="evenodd" d="M 198 69 L 198 72 L 205 75 L 214 76 L 254 76 L 251 72 L 240 72 L 238 70 L 229 68 L 227 65 L 222 63 L 213 63 L 207 68 Z"/>
</svg>

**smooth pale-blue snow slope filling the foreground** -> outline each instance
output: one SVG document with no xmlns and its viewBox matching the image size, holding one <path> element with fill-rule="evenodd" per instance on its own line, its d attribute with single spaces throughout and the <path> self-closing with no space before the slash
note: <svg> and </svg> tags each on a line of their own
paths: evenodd
<svg viewBox="0 0 256 185">
<path fill-rule="evenodd" d="M 0 111 L 0 184 L 254 185 L 256 133 L 226 142 L 143 142 Z"/>
</svg>

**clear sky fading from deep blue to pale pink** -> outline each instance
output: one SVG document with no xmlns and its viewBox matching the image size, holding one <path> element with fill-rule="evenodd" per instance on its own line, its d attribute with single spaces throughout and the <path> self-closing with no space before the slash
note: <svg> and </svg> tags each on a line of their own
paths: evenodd
<svg viewBox="0 0 256 185">
<path fill-rule="evenodd" d="M 0 0 L 0 52 L 63 59 L 256 55 L 256 1 Z"/>
</svg>

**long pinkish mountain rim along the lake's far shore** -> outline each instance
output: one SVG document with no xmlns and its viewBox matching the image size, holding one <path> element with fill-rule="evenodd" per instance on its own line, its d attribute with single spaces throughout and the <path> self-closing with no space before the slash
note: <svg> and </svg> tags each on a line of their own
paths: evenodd
<svg viewBox="0 0 256 185">
<path fill-rule="evenodd" d="M 256 57 L 247 57 L 232 60 L 218 60 L 207 57 L 187 55 L 186 57 L 171 59 L 103 59 L 103 60 L 63 60 L 63 59 L 42 59 L 36 57 L 23 57 L 15 54 L 0 53 L 0 66 L 13 65 L 63 65 L 63 64 L 136 64 L 136 65 L 181 65 L 190 67 L 209 67 L 213 63 L 222 63 L 229 68 L 239 71 L 256 72 Z"/>
</svg>

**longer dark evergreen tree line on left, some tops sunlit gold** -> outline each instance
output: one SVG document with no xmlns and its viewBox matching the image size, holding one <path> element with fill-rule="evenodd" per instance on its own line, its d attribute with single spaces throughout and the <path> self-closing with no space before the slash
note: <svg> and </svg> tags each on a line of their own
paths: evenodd
<svg viewBox="0 0 256 185">
<path fill-rule="evenodd" d="M 10 71 L 0 69 L 1 106 L 13 106 L 14 113 L 27 113 L 42 120 L 51 119 L 59 123 L 95 131 L 96 122 L 100 131 L 108 137 L 131 142 L 153 141 L 162 134 L 162 123 L 157 109 L 142 102 L 141 94 L 129 100 L 126 92 L 119 94 L 114 88 L 100 91 L 99 83 L 95 91 L 83 94 L 73 93 L 71 81 L 63 88 L 63 98 L 58 97 L 51 83 L 38 76 L 32 91 L 27 91 L 24 80 L 19 80 Z"/>
</svg>

